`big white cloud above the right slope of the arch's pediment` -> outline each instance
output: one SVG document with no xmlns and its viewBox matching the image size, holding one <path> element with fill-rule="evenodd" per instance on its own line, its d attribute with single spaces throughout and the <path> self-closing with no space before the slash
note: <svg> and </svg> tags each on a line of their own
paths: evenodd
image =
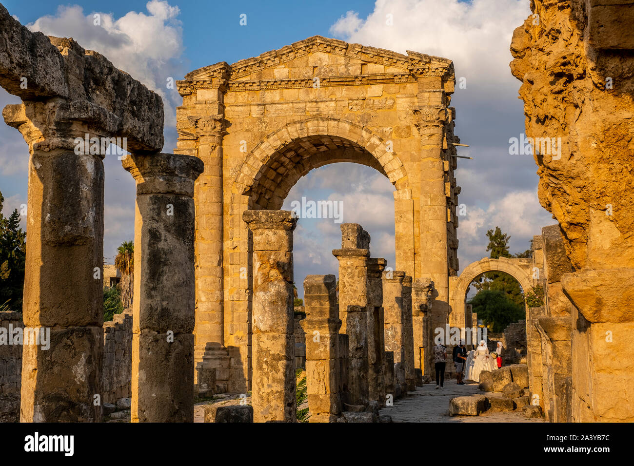
<svg viewBox="0 0 634 466">
<path fill-rule="evenodd" d="M 467 77 L 467 88 L 473 80 L 498 91 L 503 83 L 516 92 L 508 48 L 514 28 L 529 13 L 526 0 L 377 0 L 365 20 L 348 11 L 330 32 L 348 42 L 450 58 L 456 77 Z M 387 24 L 389 14 L 393 25 Z"/>
</svg>

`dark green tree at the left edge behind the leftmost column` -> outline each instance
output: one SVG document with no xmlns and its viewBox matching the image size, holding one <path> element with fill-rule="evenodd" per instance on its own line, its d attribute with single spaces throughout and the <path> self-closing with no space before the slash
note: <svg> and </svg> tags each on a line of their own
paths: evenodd
<svg viewBox="0 0 634 466">
<path fill-rule="evenodd" d="M 18 209 L 4 217 L 3 204 L 4 197 L 0 193 L 0 303 L 22 312 L 27 234 L 20 228 Z"/>
</svg>

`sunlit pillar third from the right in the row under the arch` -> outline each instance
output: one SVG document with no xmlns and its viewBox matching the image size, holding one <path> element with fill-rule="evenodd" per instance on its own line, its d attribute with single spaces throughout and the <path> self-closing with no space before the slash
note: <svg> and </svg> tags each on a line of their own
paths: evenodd
<svg viewBox="0 0 634 466">
<path fill-rule="evenodd" d="M 405 378 L 405 346 L 403 341 L 403 279 L 401 270 L 383 273 L 383 309 L 385 351 L 394 353 L 394 396 L 407 390 Z"/>
</svg>

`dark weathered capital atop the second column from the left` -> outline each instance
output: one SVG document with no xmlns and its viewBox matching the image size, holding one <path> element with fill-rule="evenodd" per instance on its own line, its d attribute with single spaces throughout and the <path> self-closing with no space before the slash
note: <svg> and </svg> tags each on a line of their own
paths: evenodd
<svg viewBox="0 0 634 466">
<path fill-rule="evenodd" d="M 121 161 L 136 179 L 136 195 L 178 194 L 193 197 L 194 181 L 204 171 L 198 157 L 173 153 L 130 154 Z"/>
</svg>

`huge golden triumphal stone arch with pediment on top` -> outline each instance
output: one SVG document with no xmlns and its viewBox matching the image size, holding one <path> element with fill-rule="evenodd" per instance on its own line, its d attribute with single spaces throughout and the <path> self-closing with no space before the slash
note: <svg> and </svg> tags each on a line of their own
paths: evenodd
<svg viewBox="0 0 634 466">
<path fill-rule="evenodd" d="M 195 187 L 195 359 L 215 369 L 205 383 L 250 389 L 252 243 L 243 212 L 280 209 L 297 180 L 322 165 L 356 162 L 389 178 L 392 267 L 433 280 L 431 323 L 448 321 L 460 193 L 454 85 L 446 58 L 319 36 L 178 82 L 174 152 L 205 163 Z M 418 309 L 413 303 L 415 349 L 424 346 Z"/>
</svg>

